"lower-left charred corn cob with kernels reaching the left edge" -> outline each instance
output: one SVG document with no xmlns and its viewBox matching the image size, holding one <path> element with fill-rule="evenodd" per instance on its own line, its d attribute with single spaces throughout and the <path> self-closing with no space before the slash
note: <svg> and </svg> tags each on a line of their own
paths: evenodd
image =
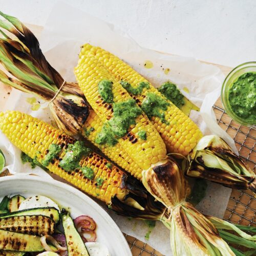
<svg viewBox="0 0 256 256">
<path fill-rule="evenodd" d="M 61 150 L 58 156 L 49 162 L 47 168 L 89 195 L 110 202 L 114 195 L 123 198 L 127 194 L 126 189 L 121 189 L 123 172 L 116 166 L 111 169 L 106 167 L 109 162 L 93 152 L 81 158 L 81 169 L 65 171 L 61 168 L 61 159 L 69 154 L 68 146 L 76 140 L 50 124 L 17 111 L 8 111 L 0 113 L 0 129 L 14 145 L 40 164 L 46 160 L 45 156 L 49 154 L 50 146 L 59 145 Z M 82 167 L 92 169 L 94 178 L 86 178 Z"/>
</svg>

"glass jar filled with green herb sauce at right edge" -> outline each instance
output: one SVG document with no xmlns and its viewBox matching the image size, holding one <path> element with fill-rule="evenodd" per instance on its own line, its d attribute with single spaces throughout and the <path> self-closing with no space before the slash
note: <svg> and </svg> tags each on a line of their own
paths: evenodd
<svg viewBox="0 0 256 256">
<path fill-rule="evenodd" d="M 256 125 L 256 61 L 243 63 L 227 75 L 221 100 L 232 119 L 243 125 Z"/>
</svg>

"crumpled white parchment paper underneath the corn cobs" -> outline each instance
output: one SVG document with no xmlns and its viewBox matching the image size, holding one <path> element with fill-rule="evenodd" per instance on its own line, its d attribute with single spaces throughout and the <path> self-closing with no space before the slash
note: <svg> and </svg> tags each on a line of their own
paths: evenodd
<svg viewBox="0 0 256 256">
<path fill-rule="evenodd" d="M 107 24 L 62 2 L 57 3 L 40 36 L 40 43 L 48 61 L 67 81 L 75 81 L 73 68 L 77 63 L 80 46 L 86 42 L 100 46 L 125 60 L 150 80 L 155 87 L 159 87 L 167 80 L 176 83 L 188 99 L 201 107 L 201 112 L 192 112 L 190 118 L 198 124 L 202 132 L 205 135 L 215 133 L 221 136 L 237 152 L 233 140 L 219 127 L 212 111 L 212 105 L 220 96 L 224 79 L 224 75 L 217 67 L 206 65 L 194 58 L 143 49 L 116 26 Z M 154 65 L 152 69 L 144 67 L 146 60 L 152 61 Z M 167 68 L 170 72 L 165 74 L 164 70 Z M 47 104 L 40 100 L 40 103 L 44 104 L 41 104 L 39 111 L 32 111 L 31 104 L 26 101 L 28 97 L 31 95 L 12 90 L 5 109 L 19 110 L 51 122 Z M 20 162 L 20 151 L 2 133 L 0 133 L 0 147 L 4 149 L 7 156 L 7 167 L 10 173 L 15 175 L 33 173 L 50 178 L 39 167 L 31 169 L 28 164 L 23 165 Z M 209 183 L 207 195 L 197 208 L 204 214 L 222 218 L 230 193 L 229 188 Z M 161 223 L 157 223 L 150 240 L 147 241 L 144 236 L 148 228 L 143 221 L 129 220 L 107 210 L 123 232 L 147 242 L 165 255 L 172 255 L 169 231 Z"/>
</svg>

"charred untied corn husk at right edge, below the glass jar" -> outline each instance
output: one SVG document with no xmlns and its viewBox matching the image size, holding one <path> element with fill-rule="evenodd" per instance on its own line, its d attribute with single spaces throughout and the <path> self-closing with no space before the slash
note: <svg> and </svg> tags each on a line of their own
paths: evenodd
<svg viewBox="0 0 256 256">
<path fill-rule="evenodd" d="M 187 175 L 256 193 L 253 171 L 216 135 L 203 137 L 191 151 Z"/>
</svg>

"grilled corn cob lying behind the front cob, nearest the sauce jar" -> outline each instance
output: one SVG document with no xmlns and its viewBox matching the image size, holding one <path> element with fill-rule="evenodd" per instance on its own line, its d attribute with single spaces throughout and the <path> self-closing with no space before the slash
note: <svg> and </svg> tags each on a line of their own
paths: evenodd
<svg viewBox="0 0 256 256">
<path fill-rule="evenodd" d="M 86 44 L 83 46 L 82 54 L 85 56 L 93 54 L 114 75 L 117 81 L 126 83 L 124 84 L 126 89 L 131 86 L 130 95 L 136 99 L 142 110 L 144 110 L 143 102 L 150 96 L 150 93 L 156 95 L 158 100 L 163 99 L 166 102 L 165 107 L 160 110 L 162 116 L 148 115 L 146 111 L 145 113 L 162 137 L 168 153 L 179 153 L 187 156 L 196 146 L 202 137 L 197 125 L 172 102 L 164 98 L 143 76 L 115 55 L 99 47 Z M 148 87 L 142 87 L 141 92 L 137 90 L 137 95 L 131 93 L 131 89 L 132 91 L 134 91 L 133 89 L 136 90 L 141 82 L 147 83 Z"/>
</svg>

